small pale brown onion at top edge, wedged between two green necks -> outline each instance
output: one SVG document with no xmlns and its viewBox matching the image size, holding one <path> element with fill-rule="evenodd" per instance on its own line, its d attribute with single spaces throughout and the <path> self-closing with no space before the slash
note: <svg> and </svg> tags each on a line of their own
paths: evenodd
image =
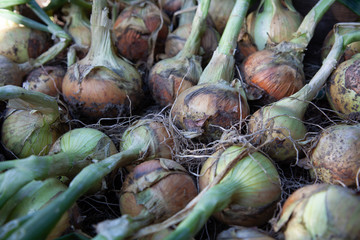
<svg viewBox="0 0 360 240">
<path fill-rule="evenodd" d="M 212 0 L 209 8 L 209 15 L 216 30 L 222 34 L 234 8 L 235 0 Z"/>
</svg>

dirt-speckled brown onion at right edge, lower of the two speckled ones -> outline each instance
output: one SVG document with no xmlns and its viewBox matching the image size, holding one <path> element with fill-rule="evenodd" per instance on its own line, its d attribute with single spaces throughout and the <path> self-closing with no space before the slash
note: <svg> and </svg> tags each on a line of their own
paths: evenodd
<svg viewBox="0 0 360 240">
<path fill-rule="evenodd" d="M 330 184 L 355 186 L 360 169 L 360 125 L 325 128 L 311 150 L 314 178 Z"/>
</svg>

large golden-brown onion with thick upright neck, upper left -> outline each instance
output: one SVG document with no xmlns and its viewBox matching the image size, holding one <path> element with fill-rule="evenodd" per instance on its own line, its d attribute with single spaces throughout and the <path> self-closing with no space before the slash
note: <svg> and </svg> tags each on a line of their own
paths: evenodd
<svg viewBox="0 0 360 240">
<path fill-rule="evenodd" d="M 126 115 L 142 95 L 139 72 L 113 51 L 111 21 L 103 6 L 93 6 L 88 54 L 68 68 L 62 84 L 72 114 L 87 121 Z"/>
</svg>

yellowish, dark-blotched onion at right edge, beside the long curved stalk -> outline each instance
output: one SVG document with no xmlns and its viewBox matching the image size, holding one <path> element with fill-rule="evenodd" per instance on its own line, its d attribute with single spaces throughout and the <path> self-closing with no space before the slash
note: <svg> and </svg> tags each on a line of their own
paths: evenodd
<svg viewBox="0 0 360 240">
<path fill-rule="evenodd" d="M 342 62 L 326 84 L 332 109 L 345 119 L 360 119 L 360 54 Z"/>
</svg>

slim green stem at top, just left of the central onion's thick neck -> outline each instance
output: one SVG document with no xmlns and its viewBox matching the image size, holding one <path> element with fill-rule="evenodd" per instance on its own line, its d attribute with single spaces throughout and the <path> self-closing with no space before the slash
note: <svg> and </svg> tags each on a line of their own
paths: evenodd
<svg viewBox="0 0 360 240">
<path fill-rule="evenodd" d="M 191 26 L 191 33 L 185 42 L 179 55 L 183 57 L 192 57 L 197 55 L 200 48 L 201 37 L 206 30 L 206 18 L 209 12 L 210 0 L 202 0 L 197 7 L 196 14 Z"/>
</svg>

